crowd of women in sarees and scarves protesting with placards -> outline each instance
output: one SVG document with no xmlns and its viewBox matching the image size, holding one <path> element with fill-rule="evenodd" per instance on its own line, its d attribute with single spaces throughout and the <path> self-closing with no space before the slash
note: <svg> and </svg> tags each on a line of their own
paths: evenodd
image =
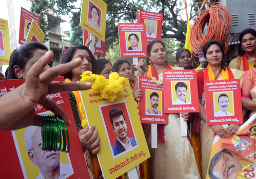
<svg viewBox="0 0 256 179">
<path fill-rule="evenodd" d="M 97 15 L 97 12 L 95 14 Z M 96 15 L 92 14 L 92 23 Z M 94 21 L 96 20 L 95 18 Z M 130 38 L 129 40 L 136 41 L 136 34 L 131 35 Z M 224 48 L 227 47 L 223 47 L 215 40 L 205 44 L 203 47 L 204 70 L 197 72 L 200 112 L 169 114 L 169 124 L 157 126 L 159 139 L 157 148 L 151 148 L 151 125 L 143 124 L 151 155 L 151 158 L 142 165 L 145 168 L 145 178 L 205 178 L 214 134 L 220 138 L 228 138 L 237 132 L 241 124 L 230 124 L 226 128 L 222 125 L 206 124 L 204 81 L 240 79 L 243 122 L 256 113 L 256 32 L 252 29 L 244 30 L 240 35 L 239 46 L 241 54 L 227 65 L 224 54 Z M 136 65 L 137 76 L 155 77 L 159 80 L 163 78 L 163 70 L 193 69 L 191 53 L 187 49 L 180 49 L 176 53 L 176 62 L 179 67 L 170 65 L 167 62 L 165 44 L 160 40 L 152 40 L 148 43 L 147 56 L 146 59 L 140 59 Z M 96 60 L 89 48 L 82 45 L 69 48 L 63 57 L 62 64 L 54 68 L 48 65 L 52 58 L 53 53 L 37 41 L 25 43 L 12 52 L 5 77 L 6 79 L 26 78 L 26 81 L 1 97 L 0 130 L 15 130 L 30 125 L 42 126 L 42 116 L 36 115 L 34 111 L 36 103 L 43 104 L 44 108 L 60 116 L 66 125 L 71 125 L 65 111 L 52 99 L 46 98 L 51 93 L 68 91 L 87 164 L 93 165 L 89 167 L 93 173 L 92 176 L 99 178 L 101 171 L 96 154 L 102 150 L 100 149 L 101 139 L 97 135 L 96 126 L 82 127 L 83 117 L 77 108 L 81 102 L 79 90 L 87 90 L 91 84 L 76 82 L 86 71 L 102 75 L 106 79 L 109 78 L 110 73 L 117 72 L 120 76 L 129 79 L 134 99 L 140 101 L 144 94 L 141 89 L 138 89 L 137 77 L 133 79 L 134 65 L 127 60 L 117 60 L 113 65 L 107 59 Z M 149 66 L 148 72 L 143 71 L 146 65 Z M 58 75 L 64 76 L 65 83 L 53 81 Z M 3 75 L 1 79 L 4 79 Z M 192 138 L 198 141 L 193 143 L 193 147 L 188 137 L 181 136 L 180 115 L 184 120 L 191 121 L 190 125 L 196 118 L 200 120 L 200 122 L 194 122 L 200 131 L 192 135 Z"/>
</svg>

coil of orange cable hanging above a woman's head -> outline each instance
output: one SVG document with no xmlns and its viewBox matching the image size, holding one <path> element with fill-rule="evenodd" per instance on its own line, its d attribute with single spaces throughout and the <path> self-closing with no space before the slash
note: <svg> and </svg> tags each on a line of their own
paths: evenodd
<svg viewBox="0 0 256 179">
<path fill-rule="evenodd" d="M 216 40 L 222 44 L 225 43 L 224 52 L 226 55 L 228 51 L 228 32 L 231 24 L 228 8 L 221 3 L 214 3 L 210 8 L 198 13 L 195 18 L 190 34 L 190 45 L 193 54 L 199 57 L 200 54 L 203 54 L 205 43 L 209 40 Z"/>
</svg>

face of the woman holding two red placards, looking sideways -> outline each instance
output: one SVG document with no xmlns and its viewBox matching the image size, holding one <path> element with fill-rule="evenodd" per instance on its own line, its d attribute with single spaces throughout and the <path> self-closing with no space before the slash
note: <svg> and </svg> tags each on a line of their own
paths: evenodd
<svg viewBox="0 0 256 179">
<path fill-rule="evenodd" d="M 162 65 L 166 61 L 166 51 L 161 43 L 154 43 L 149 54 L 153 64 Z"/>
</svg>

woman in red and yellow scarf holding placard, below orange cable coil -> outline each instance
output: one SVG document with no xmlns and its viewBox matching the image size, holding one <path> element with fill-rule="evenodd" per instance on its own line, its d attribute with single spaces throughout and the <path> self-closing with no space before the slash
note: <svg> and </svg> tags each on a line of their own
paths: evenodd
<svg viewBox="0 0 256 179">
<path fill-rule="evenodd" d="M 239 124 L 230 124 L 227 128 L 222 125 L 206 124 L 206 110 L 205 110 L 205 80 L 227 80 L 227 79 L 240 79 L 241 84 L 243 81 L 244 72 L 237 69 L 229 69 L 224 63 L 224 50 L 222 45 L 216 40 L 208 41 L 203 48 L 204 57 L 206 62 L 204 64 L 204 71 L 197 73 L 198 77 L 198 94 L 201 118 L 200 140 L 202 145 L 202 174 L 203 178 L 206 177 L 207 167 L 211 154 L 211 147 L 214 139 L 214 133 L 220 138 L 228 138 L 237 132 Z"/>
</svg>

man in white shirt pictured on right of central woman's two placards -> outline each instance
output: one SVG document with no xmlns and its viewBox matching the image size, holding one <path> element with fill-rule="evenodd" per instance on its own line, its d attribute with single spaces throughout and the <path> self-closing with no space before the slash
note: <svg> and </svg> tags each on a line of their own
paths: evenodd
<svg viewBox="0 0 256 179">
<path fill-rule="evenodd" d="M 188 86 L 184 82 L 176 83 L 175 91 L 177 99 L 173 101 L 172 104 L 191 104 L 191 102 L 186 99 L 188 94 Z"/>
</svg>

